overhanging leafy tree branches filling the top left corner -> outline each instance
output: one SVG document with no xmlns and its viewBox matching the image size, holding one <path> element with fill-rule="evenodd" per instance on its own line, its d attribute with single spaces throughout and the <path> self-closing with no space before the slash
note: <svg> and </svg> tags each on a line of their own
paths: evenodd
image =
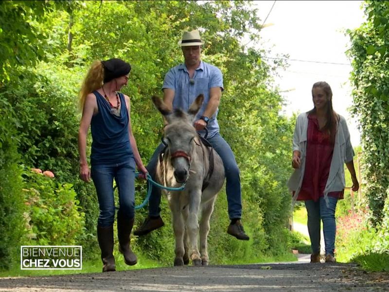
<svg viewBox="0 0 389 292">
<path fill-rule="evenodd" d="M 0 82 L 18 78 L 19 66 L 35 66 L 47 60 L 52 46 L 47 42 L 50 31 L 40 25 L 47 14 L 67 9 L 72 1 L 2 1 L 0 3 Z"/>
</svg>

